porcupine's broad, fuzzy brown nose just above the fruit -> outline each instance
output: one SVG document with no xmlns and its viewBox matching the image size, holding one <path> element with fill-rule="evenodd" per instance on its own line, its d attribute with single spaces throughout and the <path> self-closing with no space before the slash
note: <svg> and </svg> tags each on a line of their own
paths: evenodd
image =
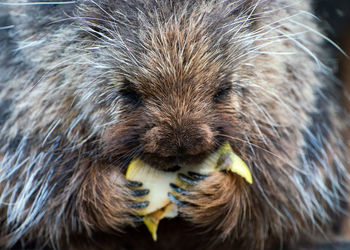
<svg viewBox="0 0 350 250">
<path fill-rule="evenodd" d="M 154 127 L 147 134 L 145 151 L 161 157 L 194 156 L 209 151 L 213 144 L 213 132 L 205 124 L 175 131 Z"/>
</svg>

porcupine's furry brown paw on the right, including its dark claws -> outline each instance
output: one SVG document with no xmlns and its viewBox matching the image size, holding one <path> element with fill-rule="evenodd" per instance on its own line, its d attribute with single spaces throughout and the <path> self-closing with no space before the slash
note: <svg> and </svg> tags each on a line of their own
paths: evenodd
<svg viewBox="0 0 350 250">
<path fill-rule="evenodd" d="M 243 218 L 248 189 L 241 177 L 216 171 L 207 176 L 189 172 L 178 178 L 181 182 L 170 184 L 169 198 L 186 220 L 228 234 Z"/>
</svg>

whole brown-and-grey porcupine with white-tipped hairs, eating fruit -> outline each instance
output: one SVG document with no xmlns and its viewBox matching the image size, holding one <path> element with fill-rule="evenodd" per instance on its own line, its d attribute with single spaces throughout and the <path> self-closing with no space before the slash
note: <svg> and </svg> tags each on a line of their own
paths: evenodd
<svg viewBox="0 0 350 250">
<path fill-rule="evenodd" d="M 348 115 L 311 1 L 21 3 L 1 4 L 1 247 L 331 237 L 346 207 Z M 225 141 L 253 184 L 193 174 L 152 243 L 133 216 L 147 204 L 124 179 L 130 160 L 166 170 Z"/>
</svg>

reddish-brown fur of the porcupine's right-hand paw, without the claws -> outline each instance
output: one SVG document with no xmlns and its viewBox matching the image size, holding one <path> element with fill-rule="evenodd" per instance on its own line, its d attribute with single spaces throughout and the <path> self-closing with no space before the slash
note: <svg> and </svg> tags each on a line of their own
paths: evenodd
<svg viewBox="0 0 350 250">
<path fill-rule="evenodd" d="M 248 193 L 249 184 L 241 177 L 214 172 L 182 197 L 189 205 L 181 207 L 180 212 L 188 221 L 206 231 L 221 231 L 226 238 L 247 216 Z"/>
</svg>

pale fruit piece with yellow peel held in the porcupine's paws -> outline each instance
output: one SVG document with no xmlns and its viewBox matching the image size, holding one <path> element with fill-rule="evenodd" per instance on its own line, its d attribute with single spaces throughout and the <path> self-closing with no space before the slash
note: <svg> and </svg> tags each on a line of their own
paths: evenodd
<svg viewBox="0 0 350 250">
<path fill-rule="evenodd" d="M 184 183 L 177 176 L 179 173 L 187 175 L 189 171 L 202 175 L 209 175 L 214 171 L 231 171 L 244 178 L 249 184 L 253 183 L 248 166 L 232 151 L 228 143 L 209 155 L 201 164 L 181 166 L 176 172 L 157 170 L 139 159 L 132 160 L 126 171 L 126 178 L 143 183 L 142 189 L 149 189 L 147 195 L 136 199 L 140 202 L 149 201 L 149 205 L 140 209 L 138 215 L 144 216 L 143 221 L 152 234 L 153 240 L 157 240 L 159 221 L 177 216 L 177 206 L 171 203 L 168 197 L 168 193 L 173 193 L 170 183 L 183 187 Z"/>
</svg>

